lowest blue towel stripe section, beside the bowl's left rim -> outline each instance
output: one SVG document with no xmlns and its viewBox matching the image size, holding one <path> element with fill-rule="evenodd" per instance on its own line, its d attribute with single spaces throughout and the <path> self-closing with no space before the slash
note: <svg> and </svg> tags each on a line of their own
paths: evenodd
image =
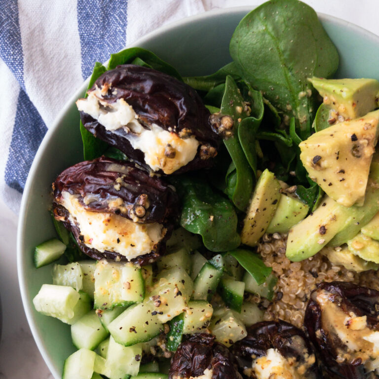
<svg viewBox="0 0 379 379">
<path fill-rule="evenodd" d="M 23 191 L 30 166 L 46 131 L 36 107 L 21 89 L 4 175 L 9 187 Z"/>
</svg>

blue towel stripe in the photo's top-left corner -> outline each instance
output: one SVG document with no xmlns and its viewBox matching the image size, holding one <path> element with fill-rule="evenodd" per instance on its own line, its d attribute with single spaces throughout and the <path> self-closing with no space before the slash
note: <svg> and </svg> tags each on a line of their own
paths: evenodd
<svg viewBox="0 0 379 379">
<path fill-rule="evenodd" d="M 25 89 L 17 0 L 0 0 L 0 10 L 0 57 Z"/>
</svg>

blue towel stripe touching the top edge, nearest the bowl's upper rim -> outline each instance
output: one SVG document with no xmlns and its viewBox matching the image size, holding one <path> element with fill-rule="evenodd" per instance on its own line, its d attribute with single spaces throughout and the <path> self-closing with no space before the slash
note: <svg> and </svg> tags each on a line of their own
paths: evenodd
<svg viewBox="0 0 379 379">
<path fill-rule="evenodd" d="M 91 75 L 95 62 L 105 62 L 125 47 L 126 8 L 127 0 L 77 0 L 84 79 Z"/>
</svg>

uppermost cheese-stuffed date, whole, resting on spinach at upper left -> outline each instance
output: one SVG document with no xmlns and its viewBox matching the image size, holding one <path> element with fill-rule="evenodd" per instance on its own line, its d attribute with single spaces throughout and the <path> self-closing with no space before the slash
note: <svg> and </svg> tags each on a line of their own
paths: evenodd
<svg viewBox="0 0 379 379">
<path fill-rule="evenodd" d="M 159 174 L 210 167 L 218 135 L 189 85 L 136 65 L 100 76 L 76 102 L 84 127 Z"/>
</svg>

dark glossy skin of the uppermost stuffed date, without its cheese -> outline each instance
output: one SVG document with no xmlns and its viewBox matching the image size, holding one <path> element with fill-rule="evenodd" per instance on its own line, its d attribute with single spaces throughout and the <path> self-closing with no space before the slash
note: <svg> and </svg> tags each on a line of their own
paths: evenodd
<svg viewBox="0 0 379 379">
<path fill-rule="evenodd" d="M 196 156 L 175 174 L 212 166 L 220 139 L 209 124 L 210 112 L 189 85 L 147 67 L 120 65 L 100 76 L 88 92 L 96 86 L 109 87 L 102 97 L 107 103 L 124 99 L 139 116 L 139 121 L 148 128 L 154 123 L 164 130 L 177 133 L 181 138 L 196 137 L 200 142 Z M 89 132 L 149 169 L 144 153 L 132 148 L 122 128 L 110 132 L 89 114 L 80 112 L 80 117 Z M 163 172 L 159 170 L 157 173 Z"/>
</svg>

